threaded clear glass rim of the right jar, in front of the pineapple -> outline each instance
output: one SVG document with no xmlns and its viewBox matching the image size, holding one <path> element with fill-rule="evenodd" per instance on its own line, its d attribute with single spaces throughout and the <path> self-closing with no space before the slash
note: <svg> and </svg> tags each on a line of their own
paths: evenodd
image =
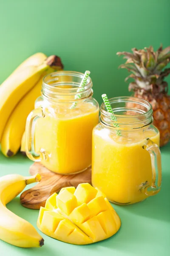
<svg viewBox="0 0 170 256">
<path fill-rule="evenodd" d="M 131 129 L 141 129 L 147 127 L 153 123 L 153 109 L 150 102 L 147 102 L 144 99 L 131 97 L 131 96 L 120 96 L 109 99 L 111 107 L 116 103 L 116 107 L 113 108 L 114 116 L 116 120 L 111 121 L 112 113 L 109 113 L 106 110 L 104 102 L 100 106 L 100 122 L 107 127 L 117 129 L 117 130 L 131 130 Z M 119 103 L 132 103 L 138 105 L 138 108 L 129 107 L 125 104 L 118 105 Z M 139 105 L 145 108 L 145 111 L 142 108 L 139 108 Z M 127 111 L 132 111 L 127 113 Z M 122 114 L 116 114 L 116 112 L 121 112 Z M 133 119 L 132 119 L 133 117 Z M 117 124 L 118 126 L 115 126 Z M 119 127 L 119 128 L 116 128 Z"/>
</svg>

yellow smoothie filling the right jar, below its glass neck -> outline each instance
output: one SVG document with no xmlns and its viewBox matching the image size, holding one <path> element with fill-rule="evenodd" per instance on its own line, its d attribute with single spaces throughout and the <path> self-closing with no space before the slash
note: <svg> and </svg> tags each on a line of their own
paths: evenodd
<svg viewBox="0 0 170 256">
<path fill-rule="evenodd" d="M 154 129 L 124 131 L 122 136 L 108 128 L 94 128 L 92 150 L 92 184 L 118 204 L 133 204 L 147 198 L 142 183 L 151 184 L 150 154 L 142 146 L 150 138 L 159 145 Z"/>
</svg>

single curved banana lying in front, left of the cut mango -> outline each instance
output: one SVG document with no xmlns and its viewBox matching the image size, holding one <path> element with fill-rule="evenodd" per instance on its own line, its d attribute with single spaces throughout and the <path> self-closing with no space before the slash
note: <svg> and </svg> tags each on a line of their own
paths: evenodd
<svg viewBox="0 0 170 256">
<path fill-rule="evenodd" d="M 40 247 L 44 239 L 26 220 L 6 208 L 6 204 L 20 194 L 27 184 L 41 180 L 39 174 L 23 177 L 12 174 L 0 177 L 0 239 L 18 247 Z"/>
</svg>

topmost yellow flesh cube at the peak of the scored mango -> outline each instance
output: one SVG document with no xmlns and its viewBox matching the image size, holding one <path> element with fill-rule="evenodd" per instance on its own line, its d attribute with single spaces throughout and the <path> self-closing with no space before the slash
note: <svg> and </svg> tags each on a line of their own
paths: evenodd
<svg viewBox="0 0 170 256">
<path fill-rule="evenodd" d="M 77 198 L 78 204 L 88 203 L 96 197 L 97 190 L 89 183 L 82 183 L 77 186 L 74 195 Z"/>
</svg>

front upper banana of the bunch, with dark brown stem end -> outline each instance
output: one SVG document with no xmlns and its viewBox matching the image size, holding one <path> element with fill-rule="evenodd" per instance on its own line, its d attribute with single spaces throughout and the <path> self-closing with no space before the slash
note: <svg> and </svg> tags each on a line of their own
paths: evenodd
<svg viewBox="0 0 170 256">
<path fill-rule="evenodd" d="M 0 142 L 10 114 L 49 67 L 61 70 L 63 66 L 60 58 L 52 55 L 38 66 L 26 66 L 24 70 L 15 72 L 0 86 Z"/>
</svg>

